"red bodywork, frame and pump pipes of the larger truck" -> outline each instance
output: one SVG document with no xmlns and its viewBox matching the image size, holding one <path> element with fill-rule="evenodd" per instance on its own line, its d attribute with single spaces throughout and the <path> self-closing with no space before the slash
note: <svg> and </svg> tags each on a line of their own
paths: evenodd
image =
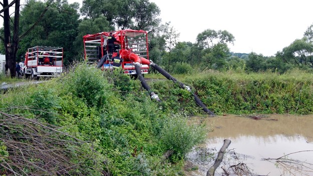
<svg viewBox="0 0 313 176">
<path fill-rule="evenodd" d="M 123 59 L 122 68 L 126 74 L 134 74 L 135 67 L 133 64 L 139 62 L 142 73 L 148 73 L 149 70 L 149 51 L 148 51 L 148 35 L 142 30 L 120 30 L 112 32 L 101 32 L 97 34 L 89 34 L 83 37 L 84 56 L 89 63 L 97 63 L 104 55 L 108 54 L 107 39 L 112 35 L 116 38 L 116 45 L 120 49 L 117 51 L 120 58 Z M 95 48 L 97 53 L 95 53 Z M 117 52 L 112 53 L 112 58 L 117 56 Z M 107 61 L 108 64 L 109 61 Z"/>
</svg>

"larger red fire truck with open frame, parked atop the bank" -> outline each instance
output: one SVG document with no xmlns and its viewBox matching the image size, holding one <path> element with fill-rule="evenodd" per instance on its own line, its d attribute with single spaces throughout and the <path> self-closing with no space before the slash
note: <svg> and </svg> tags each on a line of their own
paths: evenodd
<svg viewBox="0 0 313 176">
<path fill-rule="evenodd" d="M 114 37 L 113 50 L 109 50 L 108 39 Z M 114 67 L 122 67 L 125 74 L 137 76 L 133 61 L 125 60 L 123 50 L 129 53 L 135 53 L 141 58 L 149 60 L 148 51 L 148 34 L 142 30 L 120 30 L 112 32 L 101 32 L 97 34 L 89 34 L 83 37 L 85 60 L 89 64 L 99 64 L 105 57 L 105 62 L 101 63 L 101 67 L 105 70 Z M 120 61 L 114 59 L 116 56 L 122 58 Z M 141 73 L 147 74 L 149 65 L 141 64 Z"/>
</svg>

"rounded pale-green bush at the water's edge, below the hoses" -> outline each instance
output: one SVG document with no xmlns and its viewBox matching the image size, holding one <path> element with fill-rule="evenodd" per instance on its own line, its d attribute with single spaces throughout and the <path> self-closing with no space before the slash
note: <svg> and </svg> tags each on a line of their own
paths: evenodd
<svg viewBox="0 0 313 176">
<path fill-rule="evenodd" d="M 160 135 L 161 142 L 165 145 L 165 148 L 173 150 L 172 159 L 179 160 L 195 144 L 204 140 L 205 130 L 203 126 L 188 125 L 186 118 L 173 116 L 166 120 Z"/>
</svg>

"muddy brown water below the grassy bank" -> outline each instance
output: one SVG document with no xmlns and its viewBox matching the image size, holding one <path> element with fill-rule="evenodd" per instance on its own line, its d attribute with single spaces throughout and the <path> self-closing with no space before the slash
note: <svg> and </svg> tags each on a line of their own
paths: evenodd
<svg viewBox="0 0 313 176">
<path fill-rule="evenodd" d="M 230 139 L 215 175 L 227 175 L 224 170 L 229 175 L 240 175 L 241 169 L 246 173 L 241 175 L 313 176 L 313 115 L 226 115 L 189 120 L 200 121 L 207 124 L 210 131 L 207 140 L 186 155 L 186 175 L 206 175 L 223 140 Z M 289 155 L 283 157 L 284 160 L 274 159 L 286 154 Z M 236 170 L 235 165 L 242 167 Z"/>
</svg>

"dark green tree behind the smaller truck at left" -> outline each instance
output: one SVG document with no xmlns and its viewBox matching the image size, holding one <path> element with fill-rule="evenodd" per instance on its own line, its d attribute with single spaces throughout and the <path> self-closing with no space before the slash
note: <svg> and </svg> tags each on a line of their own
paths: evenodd
<svg viewBox="0 0 313 176">
<path fill-rule="evenodd" d="M 34 23 L 44 7 L 45 3 L 41 1 L 29 1 L 29 6 L 21 11 L 21 32 Z M 80 23 L 78 9 L 78 3 L 68 4 L 67 0 L 52 3 L 41 22 L 20 42 L 18 56 L 23 56 L 27 48 L 37 45 L 54 46 L 64 48 L 65 64 L 72 62 L 78 54 L 73 45 Z"/>
</svg>

